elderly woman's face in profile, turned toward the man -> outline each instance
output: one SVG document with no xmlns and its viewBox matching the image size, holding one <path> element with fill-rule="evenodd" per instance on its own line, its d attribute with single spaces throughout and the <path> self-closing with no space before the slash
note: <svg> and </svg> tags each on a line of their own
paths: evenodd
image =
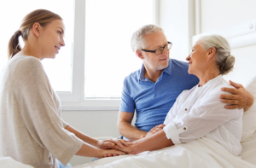
<svg viewBox="0 0 256 168">
<path fill-rule="evenodd" d="M 207 68 L 207 51 L 199 43 L 195 43 L 191 54 L 186 58 L 189 61 L 189 74 L 200 74 Z"/>
</svg>

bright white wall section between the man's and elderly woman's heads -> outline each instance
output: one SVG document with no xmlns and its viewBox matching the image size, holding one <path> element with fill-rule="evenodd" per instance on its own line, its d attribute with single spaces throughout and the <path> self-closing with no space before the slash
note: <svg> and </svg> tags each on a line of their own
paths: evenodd
<svg viewBox="0 0 256 168">
<path fill-rule="evenodd" d="M 194 0 L 160 0 L 160 26 L 172 42 L 171 58 L 186 61 L 195 35 L 194 15 Z"/>
</svg>

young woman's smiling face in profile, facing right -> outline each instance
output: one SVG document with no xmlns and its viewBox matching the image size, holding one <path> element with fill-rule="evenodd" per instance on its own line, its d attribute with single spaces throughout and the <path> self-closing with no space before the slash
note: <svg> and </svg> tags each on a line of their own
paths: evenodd
<svg viewBox="0 0 256 168">
<path fill-rule="evenodd" d="M 42 60 L 44 58 L 55 58 L 64 43 L 65 26 L 62 20 L 53 20 L 43 27 L 40 34 L 40 45 L 42 46 Z"/>
</svg>

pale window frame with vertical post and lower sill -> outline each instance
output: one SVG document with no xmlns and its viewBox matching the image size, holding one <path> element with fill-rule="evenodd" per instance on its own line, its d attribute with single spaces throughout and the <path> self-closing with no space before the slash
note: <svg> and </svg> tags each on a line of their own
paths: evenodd
<svg viewBox="0 0 256 168">
<path fill-rule="evenodd" d="M 160 0 L 154 0 L 154 24 L 159 25 Z M 84 97 L 85 0 L 74 0 L 72 91 L 60 92 L 62 110 L 118 110 L 119 98 Z"/>
</svg>

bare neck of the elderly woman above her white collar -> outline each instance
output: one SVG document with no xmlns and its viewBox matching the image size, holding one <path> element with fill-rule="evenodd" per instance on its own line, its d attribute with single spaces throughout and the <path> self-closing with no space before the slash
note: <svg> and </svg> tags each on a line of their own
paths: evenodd
<svg viewBox="0 0 256 168">
<path fill-rule="evenodd" d="M 211 70 L 213 69 L 213 70 Z M 199 75 L 196 75 L 199 78 L 199 86 L 202 86 L 204 84 L 207 84 L 209 80 L 212 80 L 212 78 L 216 78 L 219 75 L 219 71 L 215 68 L 208 68 L 208 70 L 202 72 Z"/>
</svg>

